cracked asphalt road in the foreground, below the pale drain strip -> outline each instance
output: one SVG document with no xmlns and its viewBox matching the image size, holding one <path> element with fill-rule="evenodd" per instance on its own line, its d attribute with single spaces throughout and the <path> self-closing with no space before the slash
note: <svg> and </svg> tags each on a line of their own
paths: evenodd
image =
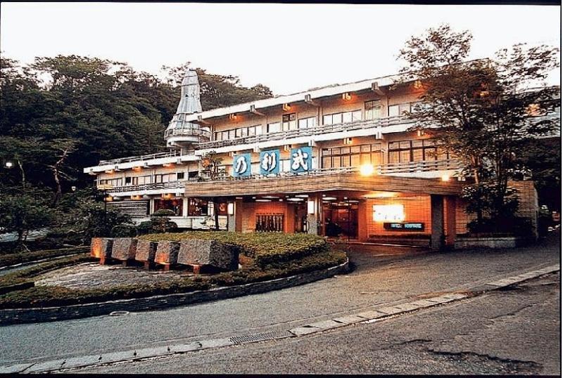
<svg viewBox="0 0 563 378">
<path fill-rule="evenodd" d="M 559 374 L 560 276 L 317 334 L 88 373 Z"/>
</svg>

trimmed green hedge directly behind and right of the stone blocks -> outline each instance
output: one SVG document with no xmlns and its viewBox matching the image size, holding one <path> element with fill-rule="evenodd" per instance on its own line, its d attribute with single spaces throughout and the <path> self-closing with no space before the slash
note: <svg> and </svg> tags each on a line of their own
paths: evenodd
<svg viewBox="0 0 563 378">
<path fill-rule="evenodd" d="M 161 233 L 139 236 L 144 240 L 213 239 L 240 248 L 241 254 L 254 259 L 256 265 L 265 267 L 304 256 L 328 252 L 329 243 L 324 237 L 308 234 L 286 233 L 233 233 L 228 231 L 189 231 L 186 233 Z"/>
</svg>

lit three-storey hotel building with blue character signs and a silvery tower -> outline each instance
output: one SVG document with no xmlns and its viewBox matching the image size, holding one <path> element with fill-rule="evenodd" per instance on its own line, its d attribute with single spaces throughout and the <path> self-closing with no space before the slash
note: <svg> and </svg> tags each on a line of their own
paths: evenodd
<svg viewBox="0 0 563 378">
<path fill-rule="evenodd" d="M 170 209 L 180 228 L 393 237 L 452 245 L 469 221 L 460 164 L 431 136 L 409 131 L 417 82 L 395 77 L 311 89 L 203 112 L 195 71 L 182 82 L 165 131 L 170 152 L 101 161 L 84 172 L 109 185 L 108 201 L 147 219 Z M 222 162 L 210 174 L 201 157 Z M 531 181 L 520 211 L 536 219 Z M 534 221 L 535 222 L 535 221 Z"/>
</svg>

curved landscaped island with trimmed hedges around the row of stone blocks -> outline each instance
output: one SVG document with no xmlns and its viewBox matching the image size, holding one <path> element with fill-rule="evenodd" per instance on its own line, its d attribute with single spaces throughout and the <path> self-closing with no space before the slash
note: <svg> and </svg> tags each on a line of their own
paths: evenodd
<svg viewBox="0 0 563 378">
<path fill-rule="evenodd" d="M 177 241 L 198 239 L 217 240 L 239 249 L 240 268 L 236 271 L 194 275 L 189 269 L 177 268 L 169 272 L 155 273 L 139 268 L 101 267 L 89 254 L 41 263 L 32 268 L 0 277 L 0 290 L 9 291 L 13 285 L 34 287 L 15 289 L 0 295 L 1 308 L 37 308 L 46 306 L 68 306 L 118 299 L 132 299 L 160 294 L 188 293 L 215 287 L 241 285 L 250 282 L 272 280 L 323 268 L 338 266 L 346 262 L 346 254 L 330 249 L 324 238 L 315 235 L 283 233 L 228 233 L 189 232 L 143 235 L 139 240 Z M 50 278 L 67 274 L 71 267 L 87 271 L 90 269 L 113 269 L 113 275 L 132 270 L 138 275 L 160 275 L 163 280 L 137 280 L 103 284 L 96 280 L 91 287 L 77 288 L 61 285 L 46 285 Z M 84 276 L 87 277 L 87 276 Z M 64 281 L 64 280 L 61 280 Z M 83 281 L 83 280 L 82 280 Z M 1 291 L 0 291 L 1 292 Z"/>
</svg>

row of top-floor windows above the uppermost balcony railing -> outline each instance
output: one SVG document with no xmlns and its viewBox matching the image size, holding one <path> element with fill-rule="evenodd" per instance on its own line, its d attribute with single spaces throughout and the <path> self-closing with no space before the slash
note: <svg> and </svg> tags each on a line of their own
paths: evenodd
<svg viewBox="0 0 563 378">
<path fill-rule="evenodd" d="M 412 111 L 414 103 L 402 103 L 398 105 L 389 105 L 389 117 L 403 115 L 405 112 Z M 365 102 L 364 119 L 381 118 L 383 106 L 381 100 L 370 100 Z M 322 116 L 322 124 L 346 124 L 348 122 L 356 122 L 362 120 L 362 110 L 351 110 L 348 112 L 337 112 Z M 290 113 L 281 116 L 281 122 L 271 122 L 267 124 L 267 133 L 277 133 L 279 131 L 290 131 L 298 129 L 310 129 L 317 126 L 317 117 L 307 117 L 297 119 L 296 113 Z M 234 138 L 244 138 L 246 136 L 255 136 L 262 134 L 262 126 L 254 125 L 248 127 L 238 127 L 215 132 L 215 141 L 227 141 Z"/>
</svg>

